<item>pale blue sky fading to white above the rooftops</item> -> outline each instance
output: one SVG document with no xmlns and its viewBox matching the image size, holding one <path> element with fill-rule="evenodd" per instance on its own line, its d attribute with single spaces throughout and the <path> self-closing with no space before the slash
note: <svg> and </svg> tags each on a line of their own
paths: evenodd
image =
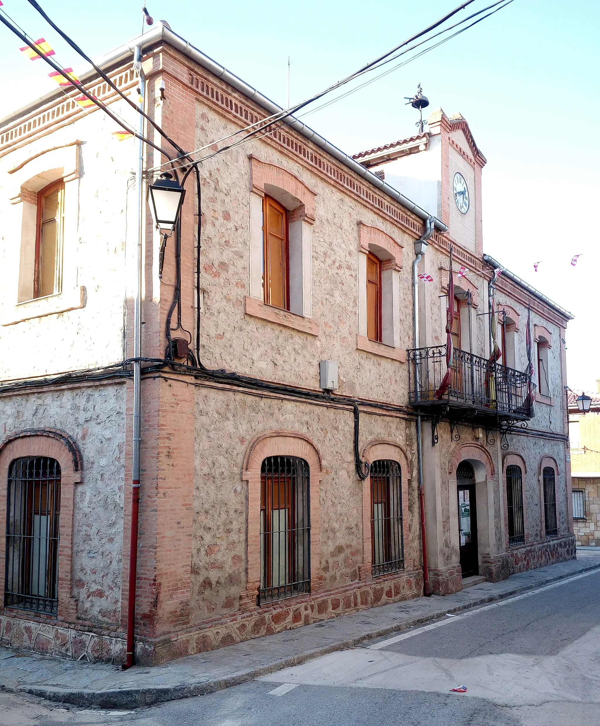
<svg viewBox="0 0 600 726">
<path fill-rule="evenodd" d="M 476 0 L 480 9 L 491 0 Z M 41 0 L 54 20 L 98 57 L 137 35 L 141 2 Z M 200 3 L 148 0 L 164 19 L 233 73 L 281 105 L 346 76 L 429 25 L 457 0 L 352 3 Z M 57 60 L 84 63 L 25 0 L 4 9 Z M 463 11 L 459 17 L 466 14 Z M 487 158 L 483 171 L 485 250 L 575 314 L 567 332 L 569 383 L 591 390 L 600 378 L 598 0 L 514 2 L 429 54 L 305 119 L 346 152 L 413 133 L 415 111 L 404 97 L 421 82 L 431 108 L 460 112 Z M 54 88 L 40 61 L 18 52 L 0 28 L 0 115 Z M 577 266 L 569 262 L 583 253 Z M 540 272 L 533 262 L 542 260 Z"/>
</svg>

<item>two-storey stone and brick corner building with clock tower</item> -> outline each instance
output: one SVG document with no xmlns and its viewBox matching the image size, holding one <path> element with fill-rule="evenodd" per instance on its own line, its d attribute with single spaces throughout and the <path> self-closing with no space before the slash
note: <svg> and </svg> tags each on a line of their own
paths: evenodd
<svg viewBox="0 0 600 726">
<path fill-rule="evenodd" d="M 465 119 L 437 110 L 354 158 L 290 121 L 213 156 L 277 107 L 164 23 L 135 42 L 147 113 L 206 156 L 180 252 L 147 205 L 142 220 L 137 661 L 421 596 L 418 420 L 432 592 L 575 558 L 571 316 L 483 253 L 485 158 Z M 133 46 L 101 65 L 137 97 Z M 82 81 L 137 124 L 96 73 Z M 120 663 L 137 142 L 77 95 L 0 121 L 0 637 Z M 165 162 L 146 147 L 145 168 Z"/>
</svg>

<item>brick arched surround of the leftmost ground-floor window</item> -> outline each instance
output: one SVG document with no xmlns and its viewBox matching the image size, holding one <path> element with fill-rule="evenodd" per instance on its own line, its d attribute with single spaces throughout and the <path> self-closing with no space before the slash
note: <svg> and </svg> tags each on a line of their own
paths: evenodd
<svg viewBox="0 0 600 726">
<path fill-rule="evenodd" d="M 58 547 L 58 619 L 76 619 L 73 598 L 73 505 L 76 484 L 81 484 L 82 458 L 75 441 L 53 429 L 21 431 L 0 444 L 0 531 L 6 531 L 7 481 L 12 461 L 26 456 L 51 457 L 60 464 L 60 544 Z M 0 537 L 0 588 L 4 602 L 6 539 Z"/>
</svg>

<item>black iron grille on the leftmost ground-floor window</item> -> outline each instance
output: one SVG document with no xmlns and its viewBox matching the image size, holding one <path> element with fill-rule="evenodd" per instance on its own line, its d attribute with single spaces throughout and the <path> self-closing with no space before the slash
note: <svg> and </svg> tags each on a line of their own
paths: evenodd
<svg viewBox="0 0 600 726">
<path fill-rule="evenodd" d="M 4 605 L 57 613 L 60 464 L 23 457 L 10 465 Z"/>
</svg>

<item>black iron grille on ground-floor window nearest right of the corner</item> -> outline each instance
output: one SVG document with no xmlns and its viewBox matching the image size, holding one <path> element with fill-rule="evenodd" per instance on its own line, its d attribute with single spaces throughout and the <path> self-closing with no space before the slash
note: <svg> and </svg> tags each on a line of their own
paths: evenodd
<svg viewBox="0 0 600 726">
<path fill-rule="evenodd" d="M 296 457 L 261 467 L 259 604 L 310 592 L 310 469 Z"/>
</svg>

